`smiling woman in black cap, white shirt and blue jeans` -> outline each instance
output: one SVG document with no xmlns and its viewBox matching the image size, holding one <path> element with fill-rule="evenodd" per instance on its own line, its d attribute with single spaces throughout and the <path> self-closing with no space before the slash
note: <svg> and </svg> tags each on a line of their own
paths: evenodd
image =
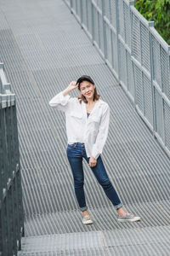
<svg viewBox="0 0 170 256">
<path fill-rule="evenodd" d="M 77 87 L 81 96 L 69 96 L 68 93 Z M 77 202 L 82 211 L 82 223 L 93 224 L 84 195 L 82 158 L 87 160 L 105 195 L 111 200 L 118 213 L 118 221 L 138 221 L 139 217 L 125 212 L 105 172 L 101 153 L 109 131 L 110 108 L 106 102 L 99 99 L 93 79 L 84 75 L 77 79 L 77 82 L 72 81 L 65 90 L 52 98 L 49 105 L 65 112 L 68 138 L 66 154 L 74 177 Z"/>
</svg>

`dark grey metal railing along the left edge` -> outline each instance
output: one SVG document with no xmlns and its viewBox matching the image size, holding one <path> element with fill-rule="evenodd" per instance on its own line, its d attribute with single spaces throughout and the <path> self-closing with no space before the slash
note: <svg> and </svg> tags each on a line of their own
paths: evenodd
<svg viewBox="0 0 170 256">
<path fill-rule="evenodd" d="M 16 256 L 24 235 L 15 95 L 0 63 L 0 255 Z"/>
</svg>

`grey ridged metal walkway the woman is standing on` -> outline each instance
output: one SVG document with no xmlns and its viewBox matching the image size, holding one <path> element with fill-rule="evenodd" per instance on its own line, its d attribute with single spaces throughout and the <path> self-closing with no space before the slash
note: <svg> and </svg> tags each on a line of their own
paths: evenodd
<svg viewBox="0 0 170 256">
<path fill-rule="evenodd" d="M 18 255 L 169 255 L 170 159 L 65 3 L 0 0 L 0 57 L 17 98 L 26 232 Z M 48 101 L 85 73 L 111 107 L 106 170 L 139 223 L 117 223 L 84 162 L 94 224 L 82 224 L 65 153 L 65 116 Z"/>
</svg>

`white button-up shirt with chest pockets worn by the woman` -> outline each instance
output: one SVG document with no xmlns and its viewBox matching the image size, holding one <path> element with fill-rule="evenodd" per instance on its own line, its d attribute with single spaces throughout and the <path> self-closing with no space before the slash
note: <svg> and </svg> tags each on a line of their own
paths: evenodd
<svg viewBox="0 0 170 256">
<path fill-rule="evenodd" d="M 109 131 L 110 107 L 99 99 L 87 116 L 86 103 L 59 92 L 48 104 L 65 112 L 67 143 L 84 143 L 88 157 L 102 153 Z"/>
</svg>

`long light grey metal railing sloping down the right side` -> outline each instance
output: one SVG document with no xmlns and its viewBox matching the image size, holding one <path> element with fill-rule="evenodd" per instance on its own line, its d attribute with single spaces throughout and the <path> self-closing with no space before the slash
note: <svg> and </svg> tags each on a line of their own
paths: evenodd
<svg viewBox="0 0 170 256">
<path fill-rule="evenodd" d="M 64 0 L 170 156 L 170 46 L 127 0 Z"/>
</svg>

